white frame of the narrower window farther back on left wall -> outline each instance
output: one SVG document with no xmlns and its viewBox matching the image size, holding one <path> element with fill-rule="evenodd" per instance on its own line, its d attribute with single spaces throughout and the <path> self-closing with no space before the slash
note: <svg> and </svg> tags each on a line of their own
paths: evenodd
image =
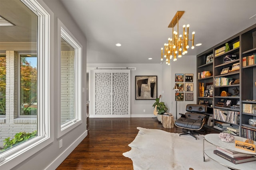
<svg viewBox="0 0 256 170">
<path fill-rule="evenodd" d="M 74 48 L 74 119 L 61 124 L 61 91 L 58 90 L 58 133 L 57 138 L 62 137 L 82 123 L 82 45 L 58 19 L 58 87 L 61 87 L 61 38 Z"/>
</svg>

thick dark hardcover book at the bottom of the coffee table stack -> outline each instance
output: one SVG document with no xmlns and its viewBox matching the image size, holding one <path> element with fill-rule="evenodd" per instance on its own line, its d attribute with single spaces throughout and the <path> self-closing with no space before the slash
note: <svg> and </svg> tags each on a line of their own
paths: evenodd
<svg viewBox="0 0 256 170">
<path fill-rule="evenodd" d="M 228 160 L 229 162 L 232 162 L 233 164 L 240 164 L 240 163 L 251 162 L 251 161 L 256 160 L 255 156 L 232 158 L 232 157 L 228 156 L 227 154 L 220 152 L 219 150 L 214 150 L 213 153 Z"/>
</svg>

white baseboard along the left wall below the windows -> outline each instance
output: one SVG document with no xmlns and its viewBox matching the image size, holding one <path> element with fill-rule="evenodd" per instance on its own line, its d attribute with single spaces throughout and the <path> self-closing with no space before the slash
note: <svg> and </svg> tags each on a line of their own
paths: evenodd
<svg viewBox="0 0 256 170">
<path fill-rule="evenodd" d="M 74 141 L 70 147 L 64 150 L 55 160 L 53 160 L 45 170 L 55 170 L 58 166 L 68 157 L 68 155 L 82 142 L 82 140 L 88 135 L 88 131 L 86 130 L 80 137 Z"/>
</svg>

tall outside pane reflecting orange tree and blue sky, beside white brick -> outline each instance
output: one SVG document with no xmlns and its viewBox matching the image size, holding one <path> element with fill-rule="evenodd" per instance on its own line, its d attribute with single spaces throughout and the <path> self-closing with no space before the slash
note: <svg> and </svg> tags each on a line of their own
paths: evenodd
<svg viewBox="0 0 256 170">
<path fill-rule="evenodd" d="M 36 55 L 20 55 L 20 115 L 37 115 Z"/>
</svg>

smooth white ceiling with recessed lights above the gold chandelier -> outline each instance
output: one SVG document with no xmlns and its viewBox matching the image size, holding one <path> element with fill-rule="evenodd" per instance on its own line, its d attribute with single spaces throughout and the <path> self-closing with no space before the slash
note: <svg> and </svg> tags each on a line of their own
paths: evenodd
<svg viewBox="0 0 256 170">
<path fill-rule="evenodd" d="M 187 55 L 198 55 L 256 23 L 249 19 L 256 14 L 256 0 L 61 1 L 86 35 L 87 63 L 160 63 L 160 49 L 172 32 L 168 25 L 180 10 L 185 11 L 180 31 L 190 24 L 195 44 L 202 43 Z"/>
</svg>

